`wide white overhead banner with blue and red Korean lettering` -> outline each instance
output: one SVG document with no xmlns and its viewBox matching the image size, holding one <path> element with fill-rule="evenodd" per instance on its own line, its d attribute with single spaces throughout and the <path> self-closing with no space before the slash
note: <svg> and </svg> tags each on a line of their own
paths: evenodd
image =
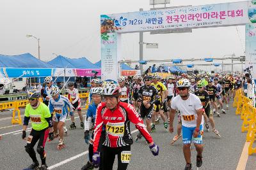
<svg viewBox="0 0 256 170">
<path fill-rule="evenodd" d="M 100 31 L 125 33 L 244 25 L 255 22 L 256 1 L 240 1 L 100 15 Z"/>
</svg>

